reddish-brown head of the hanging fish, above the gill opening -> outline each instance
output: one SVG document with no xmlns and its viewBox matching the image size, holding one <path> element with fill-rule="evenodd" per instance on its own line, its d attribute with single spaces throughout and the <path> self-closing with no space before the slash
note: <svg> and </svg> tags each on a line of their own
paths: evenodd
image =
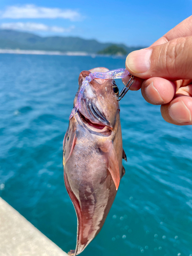
<svg viewBox="0 0 192 256">
<path fill-rule="evenodd" d="M 89 71 L 82 71 L 79 75 L 79 90 L 82 86 L 82 82 L 90 73 L 108 71 L 109 69 L 106 68 L 95 68 Z M 74 99 L 74 105 L 79 90 Z M 117 97 L 118 88 L 114 79 L 95 78 L 89 82 L 84 90 L 79 112 L 89 124 L 94 124 L 96 126 L 100 125 L 100 128 L 102 128 L 102 126 L 108 126 L 113 130 L 116 123 L 116 116 L 119 112 L 119 102 L 117 101 Z"/>
</svg>

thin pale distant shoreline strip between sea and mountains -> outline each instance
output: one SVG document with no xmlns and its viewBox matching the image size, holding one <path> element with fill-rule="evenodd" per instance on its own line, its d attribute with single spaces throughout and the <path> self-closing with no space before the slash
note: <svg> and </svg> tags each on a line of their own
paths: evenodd
<svg viewBox="0 0 192 256">
<path fill-rule="evenodd" d="M 95 58 L 96 56 L 102 57 L 115 57 L 124 58 L 123 55 L 102 55 L 88 52 L 59 52 L 59 51 L 41 51 L 41 50 L 20 50 L 20 49 L 0 49 L 0 54 L 32 54 L 32 55 L 60 55 L 60 56 L 91 56 Z"/>
</svg>

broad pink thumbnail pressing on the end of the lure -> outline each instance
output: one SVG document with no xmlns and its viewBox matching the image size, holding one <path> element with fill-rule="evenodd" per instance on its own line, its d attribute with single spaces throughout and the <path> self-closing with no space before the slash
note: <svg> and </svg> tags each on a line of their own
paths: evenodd
<svg viewBox="0 0 192 256">
<path fill-rule="evenodd" d="M 131 52 L 126 57 L 126 66 L 131 73 L 144 73 L 150 69 L 151 55 L 152 49 Z"/>
</svg>

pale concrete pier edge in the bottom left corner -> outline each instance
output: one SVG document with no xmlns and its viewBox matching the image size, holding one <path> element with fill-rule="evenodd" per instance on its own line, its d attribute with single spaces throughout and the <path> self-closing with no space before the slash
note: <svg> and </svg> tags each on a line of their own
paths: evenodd
<svg viewBox="0 0 192 256">
<path fill-rule="evenodd" d="M 0 197 L 0 256 L 67 256 Z"/>
</svg>

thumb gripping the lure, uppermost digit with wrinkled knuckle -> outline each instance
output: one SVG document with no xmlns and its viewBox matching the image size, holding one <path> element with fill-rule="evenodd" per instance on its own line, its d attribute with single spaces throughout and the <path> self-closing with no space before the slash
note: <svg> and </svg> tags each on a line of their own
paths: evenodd
<svg viewBox="0 0 192 256">
<path fill-rule="evenodd" d="M 125 66 L 131 74 L 142 79 L 191 79 L 192 36 L 179 37 L 162 45 L 131 52 L 126 57 Z"/>
</svg>

